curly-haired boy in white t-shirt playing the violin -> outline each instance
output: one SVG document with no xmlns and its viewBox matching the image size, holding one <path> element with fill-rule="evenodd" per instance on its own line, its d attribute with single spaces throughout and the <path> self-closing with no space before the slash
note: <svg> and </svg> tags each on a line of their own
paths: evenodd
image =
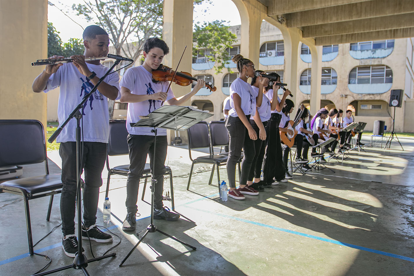
<svg viewBox="0 0 414 276">
<path fill-rule="evenodd" d="M 176 221 L 180 218 L 180 215 L 167 211 L 162 203 L 164 163 L 167 156 L 167 131 L 165 129 L 157 130 L 155 145 L 154 133 L 151 132 L 150 127 L 130 126 L 131 122 L 138 122 L 140 116 L 147 115 L 160 108 L 164 102 L 168 105 L 181 105 L 205 85 L 205 81 L 198 79 L 190 93 L 176 98 L 171 88 L 167 91 L 169 82 L 154 81 L 152 71 L 158 69 L 164 56 L 168 53 L 169 48 L 163 40 L 148 38 L 144 43 L 144 64 L 129 68 L 120 82 L 120 102 L 129 103 L 126 127 L 129 133 L 130 173 L 128 173 L 127 198 L 125 201 L 127 215 L 122 224 L 122 229 L 125 231 L 135 230 L 138 187 L 147 155 L 149 155 L 151 169 L 154 171 L 154 179 L 157 180 L 154 186 L 154 218 L 167 221 Z M 156 146 L 156 156 L 154 156 L 154 146 Z"/>
</svg>

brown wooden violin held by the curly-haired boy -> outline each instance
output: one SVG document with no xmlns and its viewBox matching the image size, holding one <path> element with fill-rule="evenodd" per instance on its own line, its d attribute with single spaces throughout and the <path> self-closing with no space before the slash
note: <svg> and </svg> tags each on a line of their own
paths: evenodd
<svg viewBox="0 0 414 276">
<path fill-rule="evenodd" d="M 174 77 L 175 74 L 175 77 Z M 174 79 L 173 79 L 174 78 Z M 190 85 L 193 81 L 197 82 L 196 78 L 188 72 L 176 72 L 172 68 L 165 65 L 159 65 L 158 69 L 152 71 L 152 79 L 157 82 L 169 82 L 173 81 L 178 85 L 187 86 Z M 206 82 L 205 86 L 210 89 L 210 91 L 216 91 L 216 86 L 211 86 Z"/>
</svg>

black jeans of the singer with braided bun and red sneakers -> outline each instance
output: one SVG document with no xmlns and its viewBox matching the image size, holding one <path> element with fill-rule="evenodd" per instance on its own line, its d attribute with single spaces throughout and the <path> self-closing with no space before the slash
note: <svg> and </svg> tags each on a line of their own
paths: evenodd
<svg viewBox="0 0 414 276">
<path fill-rule="evenodd" d="M 249 120 L 250 115 L 246 116 Z M 243 148 L 243 160 L 241 161 L 240 185 L 246 185 L 250 173 L 250 168 L 255 158 L 254 141 L 250 139 L 249 132 L 238 117 L 229 116 L 226 121 L 229 131 L 229 158 L 227 158 L 227 177 L 229 187 L 236 188 L 236 164 L 241 156 Z"/>
</svg>

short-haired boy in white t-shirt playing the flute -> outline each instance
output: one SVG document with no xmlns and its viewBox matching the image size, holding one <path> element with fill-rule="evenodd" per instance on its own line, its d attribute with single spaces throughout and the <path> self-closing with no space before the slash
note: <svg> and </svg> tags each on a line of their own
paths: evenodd
<svg viewBox="0 0 414 276">
<path fill-rule="evenodd" d="M 109 36 L 101 27 L 88 26 L 83 32 L 84 55 L 72 55 L 73 62 L 46 65 L 46 69 L 36 77 L 32 89 L 34 92 L 48 92 L 60 86 L 58 118 L 63 123 L 68 115 L 82 101 L 83 97 L 97 84 L 99 78 L 108 70 L 100 60 L 85 62 L 85 58 L 102 57 L 108 54 Z M 51 58 L 63 58 L 54 55 Z M 111 242 L 112 237 L 95 226 L 98 207 L 99 187 L 102 185 L 101 173 L 106 161 L 106 148 L 109 137 L 108 98 L 120 97 L 119 77 L 109 74 L 99 88 L 82 107 L 82 162 L 85 172 L 83 192 L 84 226 L 82 238 L 96 242 Z M 69 257 L 77 253 L 75 236 L 75 198 L 77 186 L 76 168 L 76 125 L 75 119 L 69 121 L 60 132 L 59 154 L 62 158 L 63 189 L 60 196 L 60 215 L 62 217 L 62 248 Z M 80 227 L 78 225 L 78 227 Z"/>
</svg>

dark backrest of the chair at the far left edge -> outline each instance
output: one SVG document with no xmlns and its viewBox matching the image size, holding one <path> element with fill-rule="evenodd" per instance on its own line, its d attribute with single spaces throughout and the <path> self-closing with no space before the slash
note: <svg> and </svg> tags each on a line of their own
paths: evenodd
<svg viewBox="0 0 414 276">
<path fill-rule="evenodd" d="M 0 120 L 0 167 L 28 165 L 45 161 L 46 140 L 38 120 Z"/>
</svg>

